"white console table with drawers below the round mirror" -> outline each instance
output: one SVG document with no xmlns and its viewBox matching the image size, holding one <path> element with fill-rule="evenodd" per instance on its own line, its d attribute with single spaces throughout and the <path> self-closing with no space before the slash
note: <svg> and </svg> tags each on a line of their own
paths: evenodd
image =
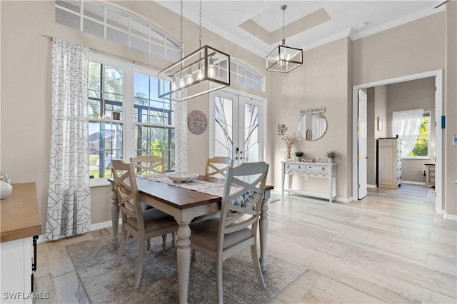
<svg viewBox="0 0 457 304">
<path fill-rule="evenodd" d="M 304 196 L 313 196 L 316 198 L 327 198 L 330 203 L 336 198 L 336 163 L 305 163 L 301 161 L 281 161 L 281 195 L 284 191 L 291 193 L 303 194 Z M 288 175 L 288 188 L 284 188 L 284 182 Z M 318 193 L 310 191 L 301 191 L 291 189 L 292 176 L 304 176 L 306 179 L 326 178 L 328 183 L 328 193 Z"/>
</svg>

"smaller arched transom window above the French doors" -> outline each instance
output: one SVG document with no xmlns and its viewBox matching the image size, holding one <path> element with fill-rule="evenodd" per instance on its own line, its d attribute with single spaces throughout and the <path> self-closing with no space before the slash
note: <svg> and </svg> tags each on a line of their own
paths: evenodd
<svg viewBox="0 0 457 304">
<path fill-rule="evenodd" d="M 264 91 L 264 77 L 241 61 L 230 59 L 230 80 L 257 91 Z"/>
</svg>

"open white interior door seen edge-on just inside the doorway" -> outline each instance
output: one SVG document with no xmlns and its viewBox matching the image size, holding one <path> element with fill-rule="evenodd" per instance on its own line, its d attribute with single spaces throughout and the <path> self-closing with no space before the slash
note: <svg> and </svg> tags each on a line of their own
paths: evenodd
<svg viewBox="0 0 457 304">
<path fill-rule="evenodd" d="M 367 194 L 367 130 L 366 130 L 366 93 L 358 90 L 358 126 L 357 126 L 357 166 L 358 166 L 358 194 L 357 198 L 361 200 Z"/>
</svg>

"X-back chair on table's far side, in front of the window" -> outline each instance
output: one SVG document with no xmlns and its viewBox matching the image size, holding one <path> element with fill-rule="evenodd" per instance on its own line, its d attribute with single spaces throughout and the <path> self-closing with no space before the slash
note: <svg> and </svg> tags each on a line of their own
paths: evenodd
<svg viewBox="0 0 457 304">
<path fill-rule="evenodd" d="M 133 163 L 135 169 L 135 175 L 141 176 L 145 174 L 165 174 L 165 158 L 154 155 L 141 155 L 130 158 L 130 162 Z M 154 207 L 141 202 L 143 210 L 148 210 Z M 176 233 L 171 233 L 173 245 L 176 245 Z M 166 246 L 166 234 L 162 235 L 162 246 Z M 151 240 L 146 240 L 146 250 L 151 248 Z"/>
</svg>

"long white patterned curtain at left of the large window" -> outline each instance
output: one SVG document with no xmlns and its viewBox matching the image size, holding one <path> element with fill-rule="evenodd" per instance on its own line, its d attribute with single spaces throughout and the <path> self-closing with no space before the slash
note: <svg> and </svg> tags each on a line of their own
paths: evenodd
<svg viewBox="0 0 457 304">
<path fill-rule="evenodd" d="M 91 228 L 88 65 L 88 48 L 53 39 L 47 240 Z"/>
</svg>

